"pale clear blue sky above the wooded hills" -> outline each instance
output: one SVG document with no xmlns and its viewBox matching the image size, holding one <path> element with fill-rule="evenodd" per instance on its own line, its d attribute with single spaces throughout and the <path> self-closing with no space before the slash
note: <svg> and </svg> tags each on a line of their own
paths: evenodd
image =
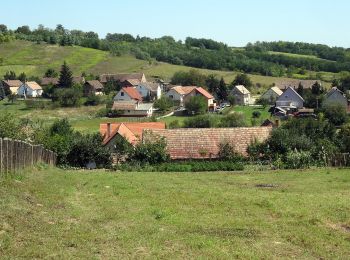
<svg viewBox="0 0 350 260">
<path fill-rule="evenodd" d="M 175 39 L 211 38 L 231 46 L 303 41 L 350 47 L 347 0 L 10 0 L 0 23 Z"/>
</svg>

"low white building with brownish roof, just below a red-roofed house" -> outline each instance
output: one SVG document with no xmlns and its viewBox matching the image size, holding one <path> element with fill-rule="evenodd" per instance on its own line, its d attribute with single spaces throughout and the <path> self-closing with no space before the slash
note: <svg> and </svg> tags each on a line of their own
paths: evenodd
<svg viewBox="0 0 350 260">
<path fill-rule="evenodd" d="M 114 101 L 112 110 L 117 111 L 118 116 L 151 117 L 153 103 L 141 103 L 136 100 Z"/>
</svg>

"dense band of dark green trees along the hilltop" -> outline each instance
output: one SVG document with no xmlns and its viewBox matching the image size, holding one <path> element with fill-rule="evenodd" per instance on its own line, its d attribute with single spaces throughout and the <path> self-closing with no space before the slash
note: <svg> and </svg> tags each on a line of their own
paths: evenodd
<svg viewBox="0 0 350 260">
<path fill-rule="evenodd" d="M 327 72 L 350 70 L 346 49 L 320 44 L 257 42 L 237 51 L 211 39 L 187 37 L 182 42 L 171 36 L 152 39 L 121 33 L 108 33 L 101 39 L 95 32 L 68 30 L 61 24 L 55 29 L 39 25 L 34 30 L 27 25 L 16 30 L 9 30 L 6 25 L 0 25 L 0 43 L 12 39 L 61 46 L 78 45 L 109 51 L 113 55 L 132 54 L 138 59 L 149 61 L 154 59 L 196 68 L 242 71 L 276 77 L 289 75 L 288 69 L 293 67 Z M 276 55 L 269 51 L 315 55 L 326 60 Z"/>
</svg>

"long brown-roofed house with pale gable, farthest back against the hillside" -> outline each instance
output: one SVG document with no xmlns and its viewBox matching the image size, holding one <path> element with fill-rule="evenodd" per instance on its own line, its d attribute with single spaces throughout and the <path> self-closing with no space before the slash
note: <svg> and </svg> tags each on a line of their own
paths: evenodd
<svg viewBox="0 0 350 260">
<path fill-rule="evenodd" d="M 123 83 L 124 84 L 123 86 L 137 86 L 140 83 L 147 82 L 147 79 L 144 73 L 118 73 L 118 74 L 100 75 L 100 82 L 102 84 L 106 84 L 110 80 Z"/>
</svg>

